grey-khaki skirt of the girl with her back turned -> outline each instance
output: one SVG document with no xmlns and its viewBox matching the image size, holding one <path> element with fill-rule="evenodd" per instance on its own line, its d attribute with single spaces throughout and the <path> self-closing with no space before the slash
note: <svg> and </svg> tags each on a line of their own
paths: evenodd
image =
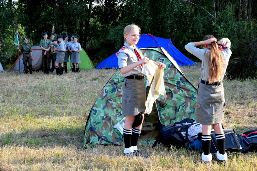
<svg viewBox="0 0 257 171">
<path fill-rule="evenodd" d="M 224 88 L 219 85 L 198 84 L 196 121 L 202 125 L 221 123 L 224 120 Z"/>
</svg>

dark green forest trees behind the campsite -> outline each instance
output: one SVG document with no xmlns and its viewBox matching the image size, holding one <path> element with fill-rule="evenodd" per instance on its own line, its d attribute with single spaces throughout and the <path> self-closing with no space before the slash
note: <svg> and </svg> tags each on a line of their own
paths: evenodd
<svg viewBox="0 0 257 171">
<path fill-rule="evenodd" d="M 95 65 L 115 53 L 124 43 L 123 29 L 135 23 L 141 33 L 171 39 L 183 54 L 188 42 L 206 34 L 231 40 L 228 78 L 257 77 L 256 0 L 1 0 L 0 62 L 17 59 L 13 44 L 29 37 L 39 45 L 42 33 L 74 34 Z M 49 37 L 48 37 L 49 38 Z"/>
</svg>

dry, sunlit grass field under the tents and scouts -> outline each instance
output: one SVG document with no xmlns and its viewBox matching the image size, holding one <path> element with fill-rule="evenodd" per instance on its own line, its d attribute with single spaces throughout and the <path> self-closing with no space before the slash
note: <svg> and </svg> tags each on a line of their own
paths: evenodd
<svg viewBox="0 0 257 171">
<path fill-rule="evenodd" d="M 182 67 L 197 87 L 199 65 Z M 0 73 L 0 170 L 206 170 L 201 151 L 140 145 L 149 158 L 128 160 L 123 146 L 83 148 L 88 113 L 115 70 L 71 71 L 62 76 Z M 226 129 L 257 129 L 257 80 L 224 80 Z M 257 153 L 228 153 L 229 166 L 256 170 Z"/>
</svg>

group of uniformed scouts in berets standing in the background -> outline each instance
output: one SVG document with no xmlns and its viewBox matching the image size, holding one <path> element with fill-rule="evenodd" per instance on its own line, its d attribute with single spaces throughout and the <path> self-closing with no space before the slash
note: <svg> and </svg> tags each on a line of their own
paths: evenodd
<svg viewBox="0 0 257 171">
<path fill-rule="evenodd" d="M 79 52 L 82 52 L 81 45 L 78 43 L 78 37 L 65 35 L 64 40 L 63 36 L 57 36 L 55 39 L 55 34 L 50 34 L 50 39 L 47 39 L 48 34 L 43 33 L 44 39 L 40 40 L 40 47 L 42 49 L 42 63 L 43 63 L 43 72 L 49 74 L 56 70 L 57 75 L 62 75 L 63 71 L 67 73 L 67 62 L 70 58 L 70 66 L 72 72 L 79 72 L 79 63 L 80 55 Z M 68 41 L 70 37 L 70 41 Z M 58 41 L 57 41 L 58 40 Z M 24 43 L 20 47 L 17 47 L 19 52 L 23 53 L 23 64 L 24 64 L 24 73 L 27 74 L 28 70 L 32 74 L 32 52 L 31 45 L 28 44 L 29 38 L 24 38 Z M 58 43 L 59 42 L 59 43 Z M 50 67 L 52 62 L 52 66 Z M 29 67 L 27 67 L 27 63 Z M 64 63 L 64 66 L 63 66 Z"/>
</svg>

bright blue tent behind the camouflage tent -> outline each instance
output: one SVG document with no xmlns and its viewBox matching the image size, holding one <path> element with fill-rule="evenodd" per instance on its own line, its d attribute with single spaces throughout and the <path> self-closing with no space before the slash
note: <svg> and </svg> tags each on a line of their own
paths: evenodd
<svg viewBox="0 0 257 171">
<path fill-rule="evenodd" d="M 185 55 L 183 55 L 171 42 L 171 39 L 163 39 L 160 37 L 153 36 L 151 34 L 142 34 L 137 44 L 138 48 L 148 47 L 163 47 L 169 54 L 174 58 L 179 66 L 195 65 L 194 61 L 191 61 Z M 117 52 L 116 52 L 117 53 Z M 118 58 L 116 53 L 109 56 L 100 64 L 97 65 L 96 69 L 102 68 L 119 68 Z"/>
</svg>

